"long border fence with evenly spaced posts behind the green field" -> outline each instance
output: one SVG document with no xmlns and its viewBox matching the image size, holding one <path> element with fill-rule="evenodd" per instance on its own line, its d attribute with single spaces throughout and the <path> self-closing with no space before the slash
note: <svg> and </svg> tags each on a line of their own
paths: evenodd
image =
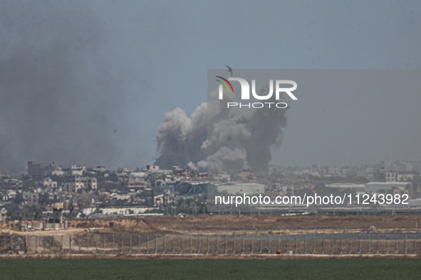
<svg viewBox="0 0 421 280">
<path fill-rule="evenodd" d="M 0 235 L 0 254 L 417 255 L 419 235 Z"/>
</svg>

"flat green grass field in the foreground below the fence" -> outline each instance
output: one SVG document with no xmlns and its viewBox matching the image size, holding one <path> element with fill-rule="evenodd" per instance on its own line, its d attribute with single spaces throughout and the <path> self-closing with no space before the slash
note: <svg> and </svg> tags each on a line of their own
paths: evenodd
<svg viewBox="0 0 421 280">
<path fill-rule="evenodd" d="M 0 259 L 0 279 L 421 279 L 421 260 Z"/>
</svg>

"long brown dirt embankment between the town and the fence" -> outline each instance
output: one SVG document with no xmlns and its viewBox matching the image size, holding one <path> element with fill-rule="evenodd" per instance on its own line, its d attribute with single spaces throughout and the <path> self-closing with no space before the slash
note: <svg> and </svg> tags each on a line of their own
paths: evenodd
<svg viewBox="0 0 421 280">
<path fill-rule="evenodd" d="M 110 226 L 113 223 L 113 227 Z M 68 221 L 68 234 L 83 232 L 110 233 L 217 233 L 217 232 L 352 232 L 370 231 L 370 227 L 383 231 L 417 231 L 421 215 L 390 216 L 245 216 L 197 215 L 191 217 L 123 217 L 109 219 L 73 219 Z M 16 230 L 13 221 L 0 222 L 0 231 L 9 234 Z M 420 229 L 421 231 L 421 229 Z M 46 231 L 50 232 L 50 231 Z M 58 234 L 58 231 L 54 231 Z M 61 231 L 60 231 L 61 232 Z M 34 234 L 31 232 L 30 234 Z M 52 232 L 51 232 L 52 233 Z M 49 234 L 51 234 L 49 233 Z"/>
</svg>

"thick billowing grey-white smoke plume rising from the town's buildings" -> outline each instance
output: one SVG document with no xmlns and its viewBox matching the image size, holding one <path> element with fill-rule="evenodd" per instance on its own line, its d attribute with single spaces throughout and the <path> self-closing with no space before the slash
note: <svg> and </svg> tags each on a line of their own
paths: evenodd
<svg viewBox="0 0 421 280">
<path fill-rule="evenodd" d="M 267 92 L 269 87 L 262 87 L 259 95 Z M 227 109 L 227 100 L 222 103 L 217 95 L 210 92 L 209 103 L 197 107 L 191 118 L 180 108 L 165 113 L 156 136 L 160 157 L 155 163 L 163 168 L 189 165 L 209 172 L 250 169 L 266 173 L 271 147 L 281 145 L 289 107 Z M 234 101 L 232 93 L 224 92 L 224 97 Z M 286 95 L 268 102 L 291 103 Z"/>
</svg>

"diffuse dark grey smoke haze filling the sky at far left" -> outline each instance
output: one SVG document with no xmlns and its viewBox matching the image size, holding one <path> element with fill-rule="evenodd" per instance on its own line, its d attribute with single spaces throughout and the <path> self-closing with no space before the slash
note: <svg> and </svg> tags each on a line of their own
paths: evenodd
<svg viewBox="0 0 421 280">
<path fill-rule="evenodd" d="M 80 1 L 1 1 L 0 168 L 113 163 L 123 102 L 104 32 Z"/>
</svg>

